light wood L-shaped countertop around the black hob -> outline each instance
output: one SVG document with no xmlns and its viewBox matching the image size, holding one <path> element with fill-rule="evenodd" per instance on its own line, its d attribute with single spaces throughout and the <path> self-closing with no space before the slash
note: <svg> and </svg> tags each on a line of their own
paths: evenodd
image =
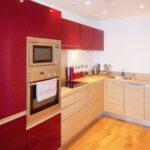
<svg viewBox="0 0 150 150">
<path fill-rule="evenodd" d="M 79 82 L 84 82 L 86 84 L 76 87 L 76 88 L 66 88 L 66 87 L 61 87 L 61 97 L 68 96 L 70 94 L 73 94 L 77 91 L 80 91 L 81 89 L 90 86 L 90 84 L 96 83 L 98 81 L 102 80 L 114 80 L 114 81 L 121 81 L 125 83 L 134 83 L 134 84 L 141 84 L 141 85 L 150 85 L 149 80 L 127 80 L 127 79 L 115 79 L 115 78 L 110 78 L 109 76 L 104 76 L 104 75 L 91 75 L 91 76 L 86 76 L 80 79 L 76 79 L 75 81 Z"/>
</svg>

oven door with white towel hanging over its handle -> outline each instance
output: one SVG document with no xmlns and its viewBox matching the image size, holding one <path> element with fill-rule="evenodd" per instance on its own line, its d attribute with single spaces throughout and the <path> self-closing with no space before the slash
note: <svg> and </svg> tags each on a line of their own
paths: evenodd
<svg viewBox="0 0 150 150">
<path fill-rule="evenodd" d="M 30 83 L 31 115 L 40 112 L 46 108 L 57 105 L 59 104 L 59 102 L 60 102 L 59 78 L 50 78 Z"/>
</svg>

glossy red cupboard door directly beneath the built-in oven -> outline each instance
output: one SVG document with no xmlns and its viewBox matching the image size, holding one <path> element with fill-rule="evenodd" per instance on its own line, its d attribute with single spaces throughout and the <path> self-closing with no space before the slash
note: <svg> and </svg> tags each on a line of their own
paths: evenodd
<svg viewBox="0 0 150 150">
<path fill-rule="evenodd" d="M 57 150 L 60 147 L 61 115 L 27 130 L 27 150 Z"/>
</svg>

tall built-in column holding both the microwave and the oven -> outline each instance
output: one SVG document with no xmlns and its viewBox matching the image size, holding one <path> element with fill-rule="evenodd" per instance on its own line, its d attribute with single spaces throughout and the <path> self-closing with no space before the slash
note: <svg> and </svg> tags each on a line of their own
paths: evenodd
<svg viewBox="0 0 150 150">
<path fill-rule="evenodd" d="M 27 38 L 27 127 L 60 113 L 61 42 Z"/>
</svg>

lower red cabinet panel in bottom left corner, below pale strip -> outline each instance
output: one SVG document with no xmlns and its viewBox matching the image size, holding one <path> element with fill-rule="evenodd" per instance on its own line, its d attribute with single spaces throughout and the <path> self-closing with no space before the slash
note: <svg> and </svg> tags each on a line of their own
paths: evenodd
<svg viewBox="0 0 150 150">
<path fill-rule="evenodd" d="M 0 150 L 26 150 L 26 117 L 0 125 Z"/>
</svg>

